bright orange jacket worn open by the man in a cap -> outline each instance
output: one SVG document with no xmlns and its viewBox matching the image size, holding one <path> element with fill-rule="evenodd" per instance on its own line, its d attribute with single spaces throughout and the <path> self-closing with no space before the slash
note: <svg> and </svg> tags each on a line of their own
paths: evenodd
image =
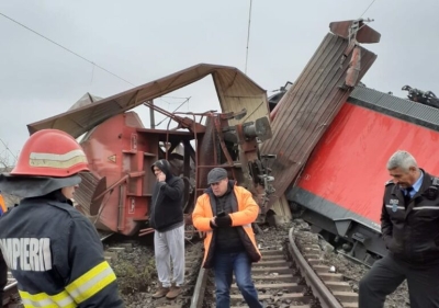
<svg viewBox="0 0 439 308">
<path fill-rule="evenodd" d="M 256 204 L 251 196 L 251 193 L 244 187 L 234 186 L 233 193 L 236 196 L 238 208 L 237 212 L 230 213 L 232 226 L 239 228 L 241 240 L 247 253 L 252 262 L 258 262 L 261 259 L 261 254 L 256 244 L 255 233 L 251 228 L 251 223 L 256 220 L 259 213 L 259 206 Z M 206 232 L 204 239 L 204 260 L 203 266 L 209 269 L 212 266 L 212 259 L 214 254 L 214 232 L 211 228 L 210 221 L 214 217 L 212 205 L 210 202 L 209 193 L 204 193 L 196 199 L 195 208 L 192 213 L 192 221 L 194 227 Z"/>
</svg>

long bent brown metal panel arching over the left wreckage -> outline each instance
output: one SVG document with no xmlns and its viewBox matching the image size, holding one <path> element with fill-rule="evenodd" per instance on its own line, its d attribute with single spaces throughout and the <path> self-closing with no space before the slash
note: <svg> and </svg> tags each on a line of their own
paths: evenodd
<svg viewBox="0 0 439 308">
<path fill-rule="evenodd" d="M 200 64 L 90 105 L 29 124 L 27 129 L 33 134 L 43 128 L 57 128 L 78 137 L 114 115 L 193 83 L 207 75 L 213 75 L 222 109 L 240 111 L 243 106 L 247 106 L 251 110 L 261 104 L 266 110 L 261 107 L 255 115 L 267 114 L 266 90 L 240 70 L 234 67 Z"/>
</svg>

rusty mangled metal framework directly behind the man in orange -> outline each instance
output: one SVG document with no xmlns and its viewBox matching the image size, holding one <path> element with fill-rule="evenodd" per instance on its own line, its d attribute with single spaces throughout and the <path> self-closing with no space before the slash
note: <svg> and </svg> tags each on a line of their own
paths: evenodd
<svg viewBox="0 0 439 308">
<path fill-rule="evenodd" d="M 255 122 L 229 125 L 240 121 L 247 113 L 206 114 L 205 134 L 200 136 L 198 162 L 195 164 L 196 196 L 207 186 L 206 176 L 215 167 L 225 168 L 229 179 L 249 190 L 263 207 L 271 192 L 271 182 L 264 161 L 259 156 L 259 141 L 271 138 L 272 132 L 267 116 Z"/>
</svg>

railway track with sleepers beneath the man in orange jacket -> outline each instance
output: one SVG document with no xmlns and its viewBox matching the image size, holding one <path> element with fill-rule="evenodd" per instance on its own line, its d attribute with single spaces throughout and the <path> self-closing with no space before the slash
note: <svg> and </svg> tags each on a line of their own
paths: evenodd
<svg viewBox="0 0 439 308">
<path fill-rule="evenodd" d="M 358 307 L 358 295 L 342 281 L 342 275 L 329 273 L 329 266 L 323 265 L 320 248 L 312 242 L 302 243 L 300 248 L 294 237 L 294 228 L 291 228 L 284 246 L 261 249 L 262 261 L 254 265 L 252 278 L 259 299 L 264 306 Z M 201 269 L 190 306 L 187 307 L 215 307 L 214 294 L 211 271 Z M 235 283 L 232 286 L 230 300 L 232 307 L 246 307 Z"/>
</svg>

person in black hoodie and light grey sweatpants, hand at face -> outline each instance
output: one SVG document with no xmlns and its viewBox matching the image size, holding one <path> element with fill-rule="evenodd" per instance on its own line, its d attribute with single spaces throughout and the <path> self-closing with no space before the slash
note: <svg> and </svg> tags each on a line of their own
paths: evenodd
<svg viewBox="0 0 439 308">
<path fill-rule="evenodd" d="M 172 299 L 179 296 L 184 282 L 184 183 L 181 178 L 172 175 L 166 159 L 156 161 L 151 170 L 156 174 L 157 183 L 153 192 L 149 224 L 155 229 L 154 250 L 160 281 L 160 286 L 153 297 L 166 296 Z"/>
</svg>

